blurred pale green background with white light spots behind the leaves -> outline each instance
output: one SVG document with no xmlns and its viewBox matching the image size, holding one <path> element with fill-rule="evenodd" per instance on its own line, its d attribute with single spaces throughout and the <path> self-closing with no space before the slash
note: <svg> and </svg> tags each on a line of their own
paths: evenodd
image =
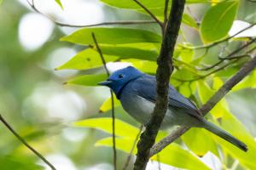
<svg viewBox="0 0 256 170">
<path fill-rule="evenodd" d="M 117 10 L 94 0 L 63 0 L 63 11 L 53 0 L 35 3 L 44 14 L 66 23 L 148 20 L 148 16 L 143 14 Z M 200 5 L 192 8 L 198 9 L 196 14 L 199 18 L 206 10 L 205 6 Z M 238 18 L 252 14 L 253 10 L 255 5 L 242 2 Z M 255 19 L 256 15 L 253 15 L 249 20 Z M 137 27 L 145 29 L 145 26 Z M 154 25 L 146 29 L 159 31 Z M 34 13 L 24 0 L 3 1 L 0 6 L 0 112 L 57 169 L 112 169 L 112 149 L 94 146 L 97 139 L 108 135 L 94 129 L 71 126 L 72 122 L 87 117 L 110 116 L 110 113 L 99 114 L 99 107 L 109 96 L 108 89 L 62 85 L 68 77 L 83 72 L 54 70 L 81 49 L 59 41 L 60 37 L 74 30 L 55 26 L 44 16 Z M 188 36 L 188 39 L 195 44 L 200 42 L 194 35 Z M 243 89 L 228 95 L 227 99 L 231 112 L 255 137 L 256 90 Z M 116 116 L 139 127 L 120 108 Z M 1 170 L 42 168 L 38 167 L 38 162 L 43 165 L 38 157 L 20 144 L 2 124 L 0 150 Z M 119 167 L 123 166 L 126 156 L 118 151 Z M 206 158 L 205 162 L 211 164 L 212 160 Z M 155 163 L 149 163 L 148 169 L 156 167 Z"/>
</svg>

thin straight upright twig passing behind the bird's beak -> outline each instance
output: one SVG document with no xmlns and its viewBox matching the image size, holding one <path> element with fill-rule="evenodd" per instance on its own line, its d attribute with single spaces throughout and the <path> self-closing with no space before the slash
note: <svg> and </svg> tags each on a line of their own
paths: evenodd
<svg viewBox="0 0 256 170">
<path fill-rule="evenodd" d="M 97 48 L 97 51 L 98 53 L 100 54 L 101 56 L 101 59 L 102 59 L 102 63 L 103 63 L 103 66 L 104 66 L 104 69 L 108 75 L 108 77 L 110 76 L 110 73 L 108 71 L 108 68 L 107 68 L 107 63 L 106 63 L 106 60 L 104 59 L 104 56 L 102 54 L 102 50 L 101 48 L 99 47 L 98 45 L 98 42 L 96 41 L 96 36 L 94 34 L 94 32 L 91 33 L 91 36 L 93 38 L 93 41 L 95 42 L 96 44 L 96 48 Z M 113 168 L 114 170 L 117 169 L 117 155 L 116 155 L 116 147 L 115 147 L 115 116 L 114 116 L 114 101 L 113 101 L 113 91 L 110 90 L 110 94 L 111 94 L 111 107 L 112 107 L 112 112 L 111 112 L 111 116 L 112 116 L 112 139 L 113 139 Z"/>
</svg>

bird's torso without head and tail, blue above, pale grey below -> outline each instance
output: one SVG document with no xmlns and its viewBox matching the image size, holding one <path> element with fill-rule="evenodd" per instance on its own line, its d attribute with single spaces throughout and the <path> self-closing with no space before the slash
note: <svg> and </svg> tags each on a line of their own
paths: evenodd
<svg viewBox="0 0 256 170">
<path fill-rule="evenodd" d="M 131 82 L 125 84 L 119 94 L 119 99 L 125 111 L 131 113 L 138 122 L 147 123 L 150 113 L 153 112 L 156 99 L 156 80 L 155 77 L 143 74 Z M 150 105 L 153 104 L 153 105 Z M 144 109 L 148 107 L 150 109 Z M 189 118 L 191 116 L 191 118 Z M 142 118 L 143 117 L 143 118 Z M 184 122 L 187 118 L 190 122 Z M 178 92 L 169 86 L 169 107 L 166 113 L 162 127 L 171 127 L 174 125 L 194 124 L 200 126 L 201 116 L 195 105 L 178 94 Z"/>
</svg>

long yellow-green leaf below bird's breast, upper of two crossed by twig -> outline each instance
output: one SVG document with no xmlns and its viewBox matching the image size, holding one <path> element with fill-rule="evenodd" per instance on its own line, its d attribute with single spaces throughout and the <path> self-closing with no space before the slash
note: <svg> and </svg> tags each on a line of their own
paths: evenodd
<svg viewBox="0 0 256 170">
<path fill-rule="evenodd" d="M 74 122 L 76 127 L 91 127 L 102 130 L 106 133 L 112 134 L 112 118 L 103 117 L 103 118 L 92 118 L 85 119 L 84 121 Z M 119 137 L 125 138 L 136 138 L 139 129 L 133 127 L 130 124 L 115 119 L 115 134 Z"/>
</svg>

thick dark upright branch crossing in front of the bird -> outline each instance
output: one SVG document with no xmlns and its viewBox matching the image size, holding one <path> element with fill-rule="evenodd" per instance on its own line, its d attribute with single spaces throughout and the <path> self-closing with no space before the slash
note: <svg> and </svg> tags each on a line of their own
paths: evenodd
<svg viewBox="0 0 256 170">
<path fill-rule="evenodd" d="M 140 141 L 137 144 L 137 159 L 134 164 L 135 170 L 143 170 L 146 168 L 149 160 L 150 148 L 154 144 L 161 122 L 166 115 L 169 80 L 173 70 L 172 55 L 181 25 L 184 6 L 185 0 L 172 0 L 172 9 L 161 45 L 160 56 L 157 60 L 158 68 L 156 71 L 156 102 L 154 111 L 148 124 L 146 125 L 146 130 L 142 133 Z"/>
</svg>

